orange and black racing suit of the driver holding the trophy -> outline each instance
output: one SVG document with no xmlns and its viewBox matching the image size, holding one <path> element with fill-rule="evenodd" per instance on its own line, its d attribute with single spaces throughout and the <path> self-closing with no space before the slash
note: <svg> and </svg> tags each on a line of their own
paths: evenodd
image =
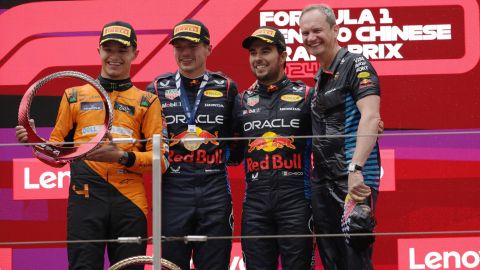
<svg viewBox="0 0 480 270">
<path fill-rule="evenodd" d="M 166 129 L 162 130 L 160 102 L 155 95 L 131 83 L 128 89 L 108 94 L 114 108 L 113 138 L 144 139 L 162 132 L 166 135 Z M 69 88 L 62 97 L 50 140 L 90 141 L 104 125 L 104 119 L 102 98 L 91 85 Z M 151 170 L 152 144 L 149 141 L 118 146 L 134 154 L 130 167 L 88 160 L 71 164 L 68 240 L 147 236 L 148 205 L 142 173 Z M 162 168 L 166 168 L 168 146 L 162 149 Z M 111 243 L 107 248 L 110 263 L 114 264 L 124 258 L 144 255 L 146 242 Z M 105 243 L 68 244 L 69 269 L 103 269 L 104 254 Z"/>
</svg>

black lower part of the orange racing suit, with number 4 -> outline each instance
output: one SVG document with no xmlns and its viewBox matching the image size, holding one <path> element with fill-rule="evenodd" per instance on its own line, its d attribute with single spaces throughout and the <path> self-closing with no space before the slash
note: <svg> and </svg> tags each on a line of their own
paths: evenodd
<svg viewBox="0 0 480 270">
<path fill-rule="evenodd" d="M 67 210 L 68 240 L 103 240 L 118 237 L 147 237 L 147 218 L 140 208 L 114 186 L 95 175 L 85 164 L 85 174 L 72 177 Z M 77 168 L 78 169 L 78 168 Z M 82 191 L 88 184 L 88 197 Z M 110 264 L 125 258 L 145 255 L 146 242 L 72 243 L 67 245 L 70 270 L 103 270 L 105 248 Z M 128 269 L 144 269 L 132 266 Z"/>
</svg>

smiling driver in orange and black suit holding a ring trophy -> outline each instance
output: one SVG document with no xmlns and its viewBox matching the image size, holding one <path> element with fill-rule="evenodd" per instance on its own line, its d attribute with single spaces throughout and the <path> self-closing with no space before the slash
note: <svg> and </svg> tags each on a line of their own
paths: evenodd
<svg viewBox="0 0 480 270">
<path fill-rule="evenodd" d="M 113 125 L 108 139 L 151 138 L 166 135 L 156 95 L 141 91 L 130 80 L 130 67 L 138 55 L 136 34 L 125 22 L 106 24 L 98 48 L 102 70 L 98 80 L 113 106 Z M 91 85 L 69 88 L 62 97 L 50 141 L 90 141 L 105 118 L 102 98 Z M 27 140 L 17 127 L 17 138 Z M 162 169 L 168 166 L 168 145 L 162 146 Z M 71 163 L 68 198 L 68 240 L 147 237 L 148 204 L 142 174 L 152 167 L 152 143 L 106 143 L 85 160 Z M 108 243 L 111 264 L 145 255 L 141 244 Z M 105 243 L 69 243 L 69 269 L 103 269 Z M 143 269 L 143 266 L 129 269 Z"/>
</svg>

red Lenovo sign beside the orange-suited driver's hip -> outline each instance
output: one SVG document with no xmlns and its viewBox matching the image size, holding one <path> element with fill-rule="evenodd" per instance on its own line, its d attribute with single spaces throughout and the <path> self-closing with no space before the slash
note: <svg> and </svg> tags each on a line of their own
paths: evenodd
<svg viewBox="0 0 480 270">
<path fill-rule="evenodd" d="M 37 159 L 13 160 L 13 199 L 66 199 L 70 184 L 68 167 L 53 168 Z"/>
</svg>

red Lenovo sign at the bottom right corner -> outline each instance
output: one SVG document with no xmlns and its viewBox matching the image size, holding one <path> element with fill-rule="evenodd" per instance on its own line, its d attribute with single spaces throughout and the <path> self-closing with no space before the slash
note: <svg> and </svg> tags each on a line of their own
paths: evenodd
<svg viewBox="0 0 480 270">
<path fill-rule="evenodd" d="M 398 269 L 479 269 L 480 238 L 400 239 Z"/>
</svg>

